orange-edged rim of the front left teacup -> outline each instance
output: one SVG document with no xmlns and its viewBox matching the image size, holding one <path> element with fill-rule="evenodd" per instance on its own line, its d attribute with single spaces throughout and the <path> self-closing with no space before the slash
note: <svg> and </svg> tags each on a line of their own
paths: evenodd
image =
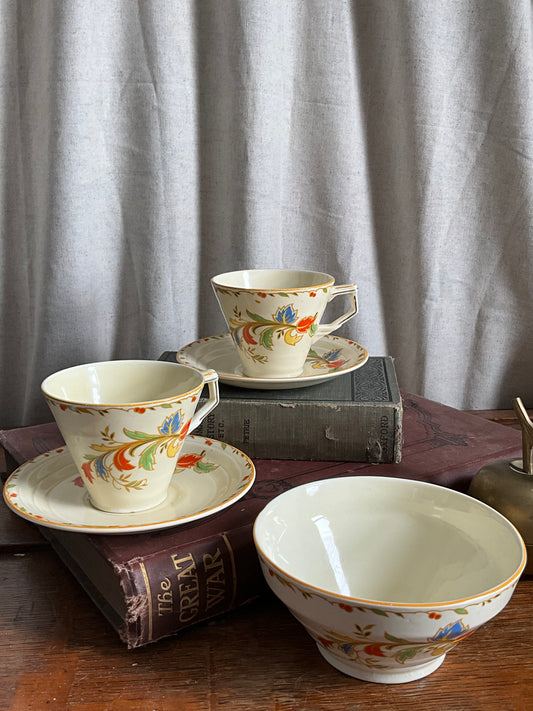
<svg viewBox="0 0 533 711">
<path fill-rule="evenodd" d="M 145 364 L 145 363 L 151 363 L 151 364 L 159 364 L 163 366 L 177 366 L 181 368 L 182 370 L 188 370 L 191 371 L 192 373 L 198 375 L 201 378 L 201 382 L 198 383 L 193 388 L 190 388 L 189 390 L 179 393 L 178 395 L 172 395 L 170 397 L 164 397 L 164 398 L 158 398 L 158 399 L 149 399 L 149 400 L 134 400 L 134 401 L 128 401 L 128 402 L 93 402 L 93 401 L 88 401 L 88 400 L 74 400 L 74 399 L 69 399 L 65 397 L 60 397 L 58 395 L 54 395 L 46 390 L 46 383 L 47 381 L 51 381 L 52 378 L 55 376 L 58 376 L 60 374 L 66 373 L 67 371 L 73 371 L 73 370 L 81 370 L 83 368 L 90 368 L 91 366 L 98 366 L 98 365 L 108 365 L 108 364 L 126 364 L 126 363 L 135 363 L 135 364 Z M 77 365 L 72 365 L 68 366 L 67 368 L 61 368 L 60 370 L 57 370 L 53 373 L 50 373 L 47 375 L 41 382 L 41 392 L 43 393 L 44 397 L 47 398 L 48 400 L 51 400 L 56 403 L 60 404 L 65 404 L 65 405 L 70 405 L 73 407 L 87 407 L 91 409 L 96 409 L 96 410 L 105 410 L 105 409 L 112 409 L 112 408 L 142 408 L 146 407 L 147 405 L 159 405 L 161 403 L 166 403 L 166 402 L 175 402 L 177 400 L 183 400 L 187 397 L 190 397 L 196 392 L 201 391 L 203 386 L 205 385 L 205 378 L 203 373 L 198 370 L 197 368 L 193 368 L 190 365 L 185 365 L 183 363 L 172 363 L 171 361 L 163 361 L 163 360 L 153 360 L 153 359 L 143 359 L 143 358 L 127 358 L 127 359 L 120 359 L 117 358 L 116 360 L 102 360 L 102 361 L 92 361 L 90 363 L 78 363 Z"/>
</svg>

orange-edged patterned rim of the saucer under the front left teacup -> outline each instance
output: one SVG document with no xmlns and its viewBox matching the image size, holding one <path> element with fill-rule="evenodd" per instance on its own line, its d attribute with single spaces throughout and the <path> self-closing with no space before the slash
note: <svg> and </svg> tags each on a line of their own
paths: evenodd
<svg viewBox="0 0 533 711">
<path fill-rule="evenodd" d="M 30 469 L 32 468 L 33 465 L 35 465 L 36 462 L 40 463 L 40 460 L 43 460 L 44 458 L 50 457 L 50 455 L 53 456 L 59 456 L 61 457 L 62 455 L 70 456 L 70 452 L 68 451 L 68 447 L 66 445 L 63 445 L 61 447 L 56 447 L 54 449 L 48 450 L 47 452 L 42 452 L 41 454 L 38 454 L 37 456 L 33 457 L 32 459 L 29 459 L 28 461 L 24 462 L 21 464 L 15 471 L 13 471 L 9 477 L 6 479 L 4 486 L 3 486 L 3 497 L 6 505 L 8 508 L 17 516 L 20 516 L 21 518 L 25 519 L 26 521 L 30 521 L 31 523 L 35 523 L 39 526 L 44 526 L 46 528 L 53 528 L 56 530 L 62 530 L 62 531 L 71 531 L 71 532 L 76 532 L 76 533 L 87 533 L 87 534 L 120 534 L 120 535 L 128 535 L 130 533 L 142 533 L 146 531 L 158 531 L 166 528 L 173 528 L 175 526 L 181 526 L 185 525 L 188 523 L 192 523 L 195 521 L 199 521 L 203 518 L 207 518 L 208 516 L 212 516 L 216 513 L 219 513 L 220 511 L 223 511 L 226 508 L 229 508 L 232 506 L 234 503 L 239 501 L 245 494 L 247 494 L 250 489 L 252 488 L 255 479 L 256 479 L 256 469 L 255 465 L 252 461 L 252 459 L 245 454 L 242 450 L 238 449 L 232 444 L 228 444 L 227 442 L 222 442 L 221 440 L 213 439 L 212 437 L 203 437 L 202 435 L 188 435 L 185 439 L 184 445 L 188 443 L 190 445 L 194 445 L 195 447 L 202 446 L 200 443 L 203 443 L 204 445 L 209 443 L 210 447 L 214 446 L 214 449 L 211 449 L 212 452 L 218 451 L 223 454 L 229 454 L 230 456 L 235 458 L 235 462 L 239 469 L 242 469 L 243 473 L 246 472 L 248 474 L 248 481 L 244 484 L 242 489 L 240 489 L 237 492 L 232 493 L 229 497 L 223 499 L 220 501 L 220 503 L 217 503 L 214 506 L 209 506 L 206 509 L 200 509 L 198 511 L 191 512 L 185 516 L 180 516 L 178 518 L 171 518 L 171 519 L 164 519 L 160 521 L 154 521 L 154 522 L 147 522 L 147 523 L 129 523 L 126 525 L 118 525 L 117 523 L 112 523 L 112 524 L 77 524 L 74 522 L 68 522 L 68 521 L 58 521 L 54 520 L 52 518 L 45 518 L 41 517 L 38 514 L 32 514 L 27 511 L 24 511 L 23 507 L 20 508 L 18 507 L 11 499 L 12 499 L 12 494 L 9 493 L 9 489 L 13 487 L 14 481 L 20 477 L 21 474 L 25 475 L 24 470 L 25 469 Z M 194 451 L 194 450 L 193 450 Z M 244 460 L 244 463 L 241 464 L 241 461 L 239 459 Z M 52 472 L 50 472 L 52 473 Z M 67 470 L 65 474 L 65 479 L 67 477 L 70 477 L 72 475 L 75 475 L 77 473 L 76 467 L 74 462 L 72 461 L 72 470 Z M 63 480 L 62 480 L 63 481 Z M 241 480 L 242 481 L 242 480 Z M 85 488 L 85 487 L 84 487 Z M 16 495 L 18 495 L 18 492 L 16 492 Z M 22 502 L 23 503 L 23 502 Z M 88 500 L 86 497 L 84 497 L 83 501 L 83 506 L 84 507 L 90 507 L 91 509 L 93 508 L 90 503 L 88 503 Z M 96 509 L 95 509 L 96 511 Z M 100 514 L 106 514 L 110 517 L 121 517 L 124 516 L 124 514 L 121 513 L 113 513 L 113 512 L 106 512 L 106 511 L 99 511 L 98 513 Z M 139 511 L 137 512 L 140 515 L 146 515 L 147 511 Z M 135 516 L 135 512 L 127 514 L 129 517 Z"/>
</svg>

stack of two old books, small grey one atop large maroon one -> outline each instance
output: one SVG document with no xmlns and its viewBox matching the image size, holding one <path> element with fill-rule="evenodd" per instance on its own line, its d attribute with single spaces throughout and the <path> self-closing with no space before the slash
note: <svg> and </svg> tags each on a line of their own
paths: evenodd
<svg viewBox="0 0 533 711">
<path fill-rule="evenodd" d="M 514 429 L 415 395 L 401 397 L 390 358 L 369 358 L 359 370 L 298 391 L 227 386 L 221 396 L 204 436 L 255 458 L 254 486 L 236 504 L 189 524 L 131 535 L 40 527 L 130 648 L 266 592 L 252 527 L 282 491 L 358 474 L 466 491 L 483 464 L 521 453 Z M 63 441 L 55 424 L 45 424 L 0 431 L 0 443 L 16 466 Z"/>
</svg>

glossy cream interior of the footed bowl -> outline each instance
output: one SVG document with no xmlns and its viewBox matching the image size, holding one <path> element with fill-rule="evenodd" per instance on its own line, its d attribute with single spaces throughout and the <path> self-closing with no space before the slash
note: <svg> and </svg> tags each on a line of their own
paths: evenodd
<svg viewBox="0 0 533 711">
<path fill-rule="evenodd" d="M 490 591 L 524 561 L 499 513 L 444 487 L 345 477 L 296 487 L 257 517 L 258 550 L 292 578 L 350 598 L 437 604 Z"/>
</svg>

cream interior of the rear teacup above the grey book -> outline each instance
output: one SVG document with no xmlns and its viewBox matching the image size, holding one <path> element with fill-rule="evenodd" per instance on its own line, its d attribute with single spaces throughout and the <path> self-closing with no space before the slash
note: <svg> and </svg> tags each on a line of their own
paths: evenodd
<svg viewBox="0 0 533 711">
<path fill-rule="evenodd" d="M 329 274 L 299 269 L 243 269 L 242 271 L 219 274 L 213 278 L 213 283 L 216 286 L 263 291 L 319 288 L 333 282 L 334 279 Z"/>
</svg>

